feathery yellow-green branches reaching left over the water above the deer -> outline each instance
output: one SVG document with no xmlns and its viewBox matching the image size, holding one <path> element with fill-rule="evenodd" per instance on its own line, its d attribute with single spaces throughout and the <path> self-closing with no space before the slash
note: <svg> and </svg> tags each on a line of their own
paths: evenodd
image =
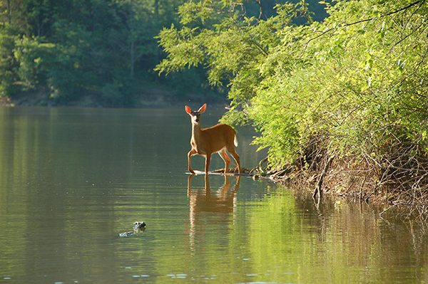
<svg viewBox="0 0 428 284">
<path fill-rule="evenodd" d="M 156 70 L 170 73 L 185 67 L 203 65 L 211 85 L 228 83 L 233 106 L 255 95 L 263 80 L 260 66 L 265 64 L 269 51 L 280 44 L 275 33 L 292 21 L 292 16 L 303 15 L 307 6 L 283 4 L 277 16 L 261 21 L 248 18 L 239 3 L 231 1 L 188 2 L 180 7 L 183 24 L 208 23 L 205 28 L 183 26 L 163 28 L 160 44 L 168 54 Z M 309 18 L 308 18 L 309 19 Z M 232 116 L 230 116 L 232 117 Z M 237 116 L 232 117 L 236 122 Z"/>
</svg>

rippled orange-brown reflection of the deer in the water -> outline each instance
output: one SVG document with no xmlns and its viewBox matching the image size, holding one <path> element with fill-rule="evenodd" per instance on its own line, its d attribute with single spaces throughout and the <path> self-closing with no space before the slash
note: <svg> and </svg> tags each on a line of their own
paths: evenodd
<svg viewBox="0 0 428 284">
<path fill-rule="evenodd" d="M 205 216 L 215 214 L 214 223 L 228 223 L 230 214 L 235 211 L 236 194 L 240 186 L 240 177 L 236 177 L 236 183 L 230 186 L 230 177 L 224 176 L 225 183 L 217 191 L 211 192 L 210 179 L 205 174 L 205 188 L 192 188 L 190 183 L 195 175 L 188 177 L 189 199 L 189 223 L 188 230 L 190 248 L 193 248 L 197 231 L 203 231 L 205 226 L 213 224 L 213 220 L 206 222 Z M 198 226 L 198 228 L 197 228 Z"/>
</svg>

